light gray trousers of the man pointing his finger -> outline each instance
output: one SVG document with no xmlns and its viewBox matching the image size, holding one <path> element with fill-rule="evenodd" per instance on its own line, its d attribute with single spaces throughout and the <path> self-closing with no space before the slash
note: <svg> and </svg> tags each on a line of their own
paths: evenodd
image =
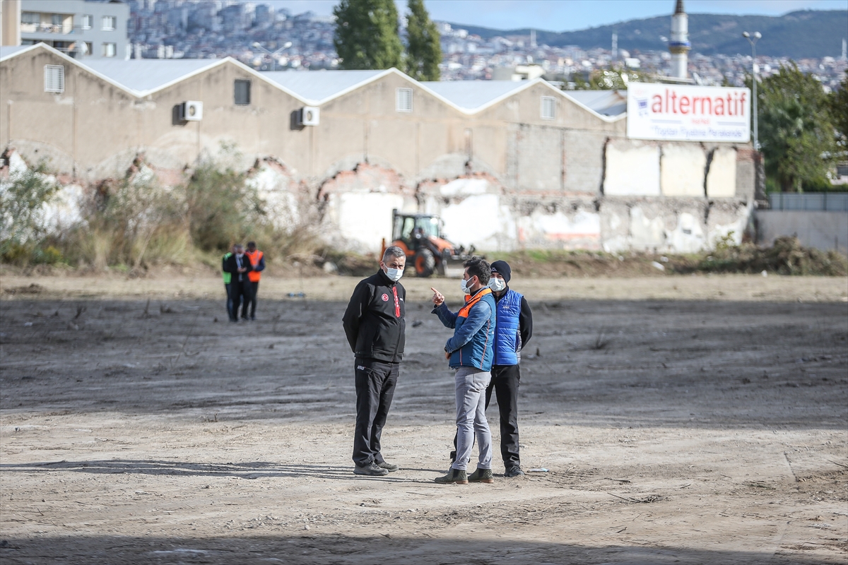
<svg viewBox="0 0 848 565">
<path fill-rule="evenodd" d="M 452 465 L 455 469 L 466 470 L 475 435 L 480 449 L 477 468 L 492 468 L 492 434 L 486 420 L 486 387 L 491 379 L 491 372 L 478 368 L 456 370 L 456 460 Z"/>
</svg>

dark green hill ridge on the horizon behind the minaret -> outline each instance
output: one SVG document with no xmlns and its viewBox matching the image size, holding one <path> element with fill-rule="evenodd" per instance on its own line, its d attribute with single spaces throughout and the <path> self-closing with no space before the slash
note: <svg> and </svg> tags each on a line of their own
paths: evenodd
<svg viewBox="0 0 848 565">
<path fill-rule="evenodd" d="M 528 36 L 529 29 L 492 30 L 473 25 L 451 24 L 484 38 L 493 36 Z M 611 36 L 618 34 L 618 47 L 628 51 L 665 48 L 660 36 L 670 33 L 671 15 L 647 19 L 631 19 L 588 30 L 536 32 L 539 45 L 552 47 L 577 45 L 584 49 L 610 48 Z M 806 10 L 782 16 L 689 14 L 689 41 L 692 50 L 705 55 L 750 53 L 742 31 L 760 31 L 757 53 L 794 59 L 806 57 L 839 57 L 842 39 L 848 38 L 848 10 Z"/>
</svg>

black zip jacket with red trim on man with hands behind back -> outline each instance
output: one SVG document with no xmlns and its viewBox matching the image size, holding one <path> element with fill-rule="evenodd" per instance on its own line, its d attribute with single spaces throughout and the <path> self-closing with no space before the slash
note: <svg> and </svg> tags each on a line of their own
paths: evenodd
<svg viewBox="0 0 848 565">
<path fill-rule="evenodd" d="M 404 287 L 389 279 L 382 269 L 356 285 L 342 319 L 350 350 L 356 357 L 400 363 L 404 357 L 405 300 Z"/>
</svg>

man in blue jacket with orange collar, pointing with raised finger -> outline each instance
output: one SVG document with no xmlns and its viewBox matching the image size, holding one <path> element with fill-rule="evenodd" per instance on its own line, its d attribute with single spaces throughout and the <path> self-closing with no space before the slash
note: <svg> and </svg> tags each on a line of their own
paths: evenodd
<svg viewBox="0 0 848 565">
<path fill-rule="evenodd" d="M 466 485 L 469 482 L 494 483 L 492 476 L 492 435 L 486 421 L 486 387 L 492 378 L 494 360 L 495 305 L 488 280 L 492 275 L 489 264 L 474 257 L 464 263 L 462 291 L 466 304 L 457 313 L 444 304 L 444 296 L 433 291 L 432 313 L 442 324 L 454 329 L 454 336 L 444 345 L 444 357 L 456 369 L 456 436 L 457 456 L 448 474 L 438 477 L 444 485 Z M 477 435 L 480 457 L 477 470 L 466 474 L 471 459 L 471 447 Z"/>
</svg>

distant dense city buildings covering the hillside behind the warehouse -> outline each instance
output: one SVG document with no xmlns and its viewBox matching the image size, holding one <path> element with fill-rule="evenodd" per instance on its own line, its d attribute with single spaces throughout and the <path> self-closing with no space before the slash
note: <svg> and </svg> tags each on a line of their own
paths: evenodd
<svg viewBox="0 0 848 565">
<path fill-rule="evenodd" d="M 237 58 L 254 69 L 337 69 L 338 55 L 332 45 L 332 17 L 309 12 L 291 14 L 262 3 L 235 0 L 127 0 L 131 5 L 129 32 L 139 58 Z M 573 82 L 594 69 L 610 65 L 639 69 L 656 75 L 671 74 L 671 54 L 657 41 L 656 51 L 628 51 L 619 43 L 609 49 L 577 46 L 550 47 L 528 36 L 494 36 L 483 39 L 461 28 L 438 22 L 442 36 L 442 80 L 491 80 L 512 73 L 518 66 L 537 66 L 550 80 Z M 404 20 L 401 20 L 404 34 Z M 253 47 L 259 42 L 275 52 L 286 42 L 292 46 L 279 53 L 274 64 L 267 53 Z M 776 72 L 787 58 L 757 57 L 761 73 Z M 796 61 L 823 86 L 834 88 L 842 80 L 848 61 L 834 57 Z M 706 85 L 741 86 L 750 75 L 750 53 L 706 56 L 689 53 L 689 76 Z"/>
</svg>

